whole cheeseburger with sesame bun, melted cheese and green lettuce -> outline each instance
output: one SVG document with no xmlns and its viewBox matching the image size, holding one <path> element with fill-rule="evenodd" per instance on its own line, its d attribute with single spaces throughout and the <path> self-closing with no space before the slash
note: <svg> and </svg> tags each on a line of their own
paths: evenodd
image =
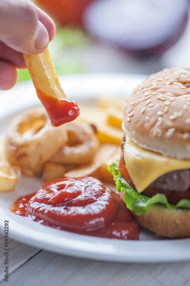
<svg viewBox="0 0 190 286">
<path fill-rule="evenodd" d="M 140 83 L 123 109 L 116 188 L 140 225 L 190 237 L 190 69 L 163 69 Z"/>
</svg>

